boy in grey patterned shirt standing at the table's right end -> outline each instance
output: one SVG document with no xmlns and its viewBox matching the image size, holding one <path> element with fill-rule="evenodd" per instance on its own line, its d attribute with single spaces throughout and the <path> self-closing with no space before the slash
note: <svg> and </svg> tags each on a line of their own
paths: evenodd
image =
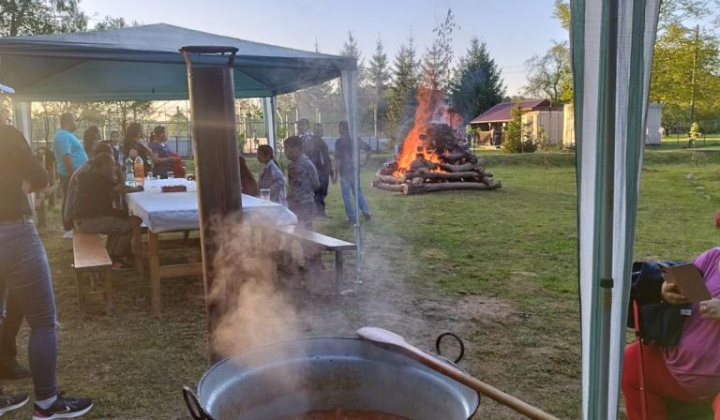
<svg viewBox="0 0 720 420">
<path fill-rule="evenodd" d="M 312 229 L 315 216 L 315 191 L 320 188 L 317 169 L 302 152 L 302 139 L 291 136 L 285 139 L 285 156 L 290 160 L 288 180 L 290 189 L 287 201 L 290 210 L 298 218 L 298 225 Z"/>
</svg>

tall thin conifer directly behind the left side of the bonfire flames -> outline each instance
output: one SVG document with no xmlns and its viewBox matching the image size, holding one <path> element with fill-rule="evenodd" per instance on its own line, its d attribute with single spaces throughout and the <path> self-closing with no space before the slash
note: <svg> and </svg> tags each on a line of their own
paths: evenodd
<svg viewBox="0 0 720 420">
<path fill-rule="evenodd" d="M 387 134 L 393 142 L 405 137 L 412 126 L 415 107 L 420 63 L 412 36 L 400 45 L 393 63 L 392 84 L 388 95 Z"/>
</svg>

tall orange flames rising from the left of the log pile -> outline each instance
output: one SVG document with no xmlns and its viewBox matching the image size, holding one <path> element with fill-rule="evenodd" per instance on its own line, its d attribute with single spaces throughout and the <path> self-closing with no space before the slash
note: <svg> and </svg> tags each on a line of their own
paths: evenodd
<svg viewBox="0 0 720 420">
<path fill-rule="evenodd" d="M 421 87 L 417 94 L 417 102 L 415 121 L 403 140 L 400 153 L 395 158 L 398 164 L 397 170 L 393 173 L 395 177 L 402 177 L 405 174 L 420 149 L 425 160 L 441 163 L 438 154 L 434 150 L 428 150 L 425 142 L 420 139 L 420 135 L 428 133 L 432 124 L 448 124 L 456 129 L 462 124 L 462 117 L 448 108 L 445 96 L 438 90 Z"/>
</svg>

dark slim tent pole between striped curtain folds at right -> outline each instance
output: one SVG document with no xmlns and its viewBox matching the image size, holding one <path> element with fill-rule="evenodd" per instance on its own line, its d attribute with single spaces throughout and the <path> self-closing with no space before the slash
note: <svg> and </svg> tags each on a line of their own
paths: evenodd
<svg viewBox="0 0 720 420">
<path fill-rule="evenodd" d="M 615 114 L 617 85 L 617 33 L 618 0 L 609 0 L 607 26 L 607 51 L 605 60 L 605 147 L 603 148 L 603 265 L 600 278 L 602 294 L 602 337 L 600 341 L 600 387 L 598 396 L 598 419 L 608 417 L 610 395 L 610 345 L 613 280 L 613 223 L 615 214 Z"/>
</svg>

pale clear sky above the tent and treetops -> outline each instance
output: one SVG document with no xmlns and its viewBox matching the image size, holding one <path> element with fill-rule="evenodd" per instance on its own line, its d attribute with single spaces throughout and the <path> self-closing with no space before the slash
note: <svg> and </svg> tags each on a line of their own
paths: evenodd
<svg viewBox="0 0 720 420">
<path fill-rule="evenodd" d="M 284 47 L 337 54 L 348 31 L 369 62 L 381 39 L 392 62 L 412 34 L 420 53 L 451 8 L 458 28 L 454 53 L 463 55 L 473 36 L 487 44 L 509 95 L 526 83 L 525 62 L 567 33 L 552 17 L 553 0 L 81 0 L 91 24 L 105 16 L 142 24 L 168 23 Z"/>
</svg>

